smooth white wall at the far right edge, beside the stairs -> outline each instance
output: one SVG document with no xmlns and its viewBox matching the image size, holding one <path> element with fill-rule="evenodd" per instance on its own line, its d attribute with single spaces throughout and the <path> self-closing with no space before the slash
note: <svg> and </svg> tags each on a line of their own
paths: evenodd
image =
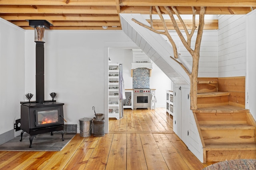
<svg viewBox="0 0 256 170">
<path fill-rule="evenodd" d="M 256 120 L 256 10 L 247 14 L 246 18 L 246 108 Z"/>
</svg>

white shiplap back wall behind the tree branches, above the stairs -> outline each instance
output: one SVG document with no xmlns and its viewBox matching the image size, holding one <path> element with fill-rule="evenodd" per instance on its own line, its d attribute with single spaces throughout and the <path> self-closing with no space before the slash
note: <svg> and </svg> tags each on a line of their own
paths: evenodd
<svg viewBox="0 0 256 170">
<path fill-rule="evenodd" d="M 192 66 L 192 57 L 187 49 L 184 47 L 177 35 L 176 31 L 169 31 L 172 39 L 176 43 L 178 53 L 185 59 L 190 66 Z M 182 31 L 183 36 L 186 39 L 186 34 Z M 194 32 L 191 41 L 191 48 L 194 49 L 196 43 L 197 31 Z M 165 35 L 162 35 L 166 41 L 169 42 Z M 217 30 L 204 30 L 202 35 L 201 47 L 200 47 L 200 58 L 198 77 L 218 77 L 218 31 Z M 170 43 L 170 42 L 169 42 Z"/>
</svg>

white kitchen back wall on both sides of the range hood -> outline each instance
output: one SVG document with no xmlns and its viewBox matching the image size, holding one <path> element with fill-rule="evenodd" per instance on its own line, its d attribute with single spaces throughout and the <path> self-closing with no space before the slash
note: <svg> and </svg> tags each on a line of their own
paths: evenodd
<svg viewBox="0 0 256 170">
<path fill-rule="evenodd" d="M 132 89 L 132 49 L 109 49 L 109 56 L 112 63 L 123 64 L 124 88 Z M 156 89 L 156 107 L 166 107 L 166 90 L 172 90 L 172 81 L 154 63 L 150 77 L 150 88 Z"/>
</svg>

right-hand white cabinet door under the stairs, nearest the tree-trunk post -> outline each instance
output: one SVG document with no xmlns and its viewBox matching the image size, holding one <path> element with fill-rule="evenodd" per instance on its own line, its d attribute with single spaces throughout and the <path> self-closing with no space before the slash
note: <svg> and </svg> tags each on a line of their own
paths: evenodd
<svg viewBox="0 0 256 170">
<path fill-rule="evenodd" d="M 189 123 L 190 123 L 190 89 L 181 88 L 181 140 L 188 146 L 189 145 Z"/>
</svg>

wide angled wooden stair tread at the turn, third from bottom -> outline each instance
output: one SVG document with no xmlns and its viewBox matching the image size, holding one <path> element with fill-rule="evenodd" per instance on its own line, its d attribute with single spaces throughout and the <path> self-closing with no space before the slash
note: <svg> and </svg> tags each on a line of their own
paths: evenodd
<svg viewBox="0 0 256 170">
<path fill-rule="evenodd" d="M 236 107 L 231 105 L 203 107 L 196 110 L 192 110 L 194 113 L 247 113 L 249 109 L 242 107 Z"/>
</svg>

